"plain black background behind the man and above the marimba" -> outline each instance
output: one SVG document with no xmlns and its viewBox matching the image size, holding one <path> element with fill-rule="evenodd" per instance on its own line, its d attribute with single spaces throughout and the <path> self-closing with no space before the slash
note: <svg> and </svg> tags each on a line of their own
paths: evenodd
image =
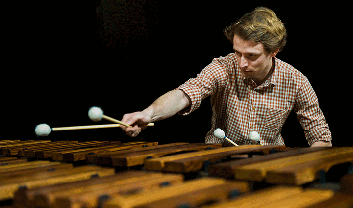
<svg viewBox="0 0 353 208">
<path fill-rule="evenodd" d="M 118 120 L 142 111 L 233 52 L 223 29 L 257 6 L 284 22 L 277 58 L 308 77 L 333 146 L 352 146 L 352 1 L 1 1 L 0 139 L 204 142 L 209 98 L 137 138 L 120 128 L 37 138 L 34 128 L 95 124 L 91 106 Z M 308 146 L 294 113 L 282 136 L 288 147 Z"/>
</svg>

